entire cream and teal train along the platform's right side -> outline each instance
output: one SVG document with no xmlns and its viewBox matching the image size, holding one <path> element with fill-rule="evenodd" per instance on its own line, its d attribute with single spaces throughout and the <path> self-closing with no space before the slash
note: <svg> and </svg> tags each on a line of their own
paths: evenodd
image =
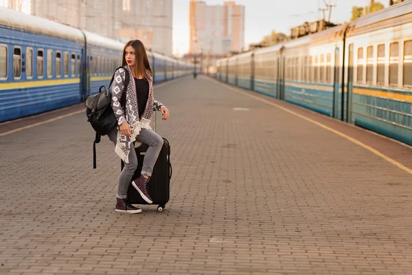
<svg viewBox="0 0 412 275">
<path fill-rule="evenodd" d="M 216 78 L 412 145 L 412 1 L 222 58 Z"/>
</svg>

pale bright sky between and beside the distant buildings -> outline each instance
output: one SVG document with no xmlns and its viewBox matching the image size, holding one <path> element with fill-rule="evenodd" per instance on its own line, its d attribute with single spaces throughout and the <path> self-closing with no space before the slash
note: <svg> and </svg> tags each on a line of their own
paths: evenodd
<svg viewBox="0 0 412 275">
<path fill-rule="evenodd" d="M 207 5 L 222 5 L 224 0 L 204 0 Z M 323 18 L 319 8 L 324 0 L 232 0 L 244 5 L 244 48 L 257 43 L 272 30 L 290 35 L 290 28 Z M 331 21 L 344 23 L 352 17 L 352 6 L 367 5 L 370 0 L 325 0 L 332 8 Z M 388 6 L 389 0 L 378 0 Z M 189 51 L 190 0 L 173 0 L 173 54 L 181 56 Z M 325 12 L 328 19 L 328 12 Z"/>
</svg>

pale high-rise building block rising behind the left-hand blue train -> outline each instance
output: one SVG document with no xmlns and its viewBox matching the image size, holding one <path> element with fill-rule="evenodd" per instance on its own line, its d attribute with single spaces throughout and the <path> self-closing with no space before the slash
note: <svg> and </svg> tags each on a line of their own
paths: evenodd
<svg viewBox="0 0 412 275">
<path fill-rule="evenodd" d="M 31 13 L 122 42 L 139 39 L 171 55 L 172 6 L 173 0 L 31 0 Z"/>
</svg>

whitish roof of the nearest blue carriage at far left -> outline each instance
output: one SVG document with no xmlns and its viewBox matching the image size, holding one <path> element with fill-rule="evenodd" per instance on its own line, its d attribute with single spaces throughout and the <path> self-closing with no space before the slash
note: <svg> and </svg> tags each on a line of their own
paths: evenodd
<svg viewBox="0 0 412 275">
<path fill-rule="evenodd" d="M 78 28 L 57 23 L 41 17 L 17 12 L 9 8 L 0 7 L 0 25 L 8 28 L 25 30 L 38 34 L 69 39 L 72 41 L 84 41 L 84 36 Z"/>
</svg>

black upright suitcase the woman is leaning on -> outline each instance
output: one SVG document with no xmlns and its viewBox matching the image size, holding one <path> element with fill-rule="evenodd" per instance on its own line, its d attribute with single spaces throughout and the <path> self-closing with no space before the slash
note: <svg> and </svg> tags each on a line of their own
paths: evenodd
<svg viewBox="0 0 412 275">
<path fill-rule="evenodd" d="M 148 149 L 147 144 L 141 144 L 135 148 L 137 155 L 137 169 L 132 177 L 132 181 L 140 177 L 141 167 L 143 166 L 144 154 Z M 124 162 L 122 161 L 122 170 Z M 148 189 L 152 204 L 158 204 L 157 211 L 162 212 L 165 204 L 168 203 L 170 197 L 170 178 L 172 177 L 172 164 L 170 164 L 170 144 L 168 140 L 163 137 L 163 147 L 157 157 L 155 167 L 153 167 L 152 177 L 148 182 Z M 128 201 L 133 204 L 149 204 L 137 192 L 133 184 L 128 187 L 127 191 Z"/>
</svg>

